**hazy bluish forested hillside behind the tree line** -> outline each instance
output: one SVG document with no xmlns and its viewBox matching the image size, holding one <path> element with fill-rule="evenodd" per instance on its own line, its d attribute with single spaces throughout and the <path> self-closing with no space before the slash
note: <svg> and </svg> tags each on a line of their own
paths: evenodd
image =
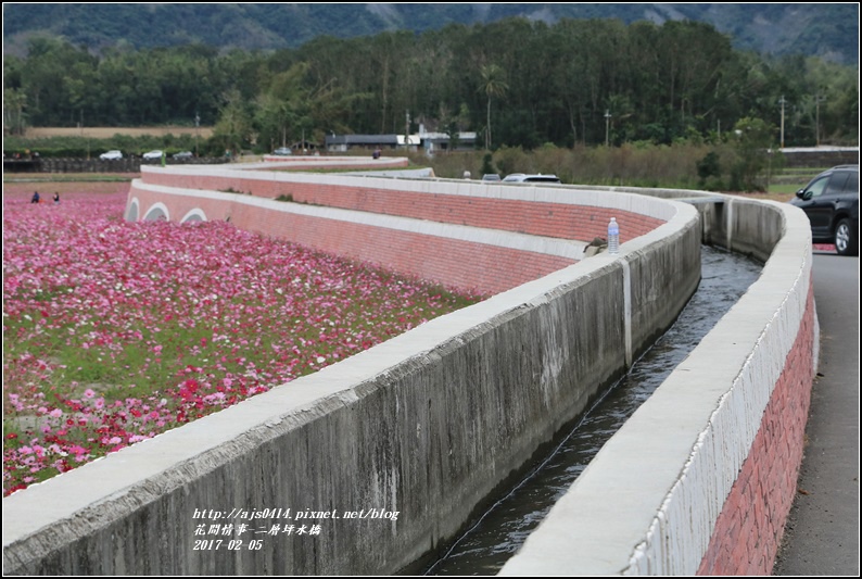
<svg viewBox="0 0 862 579">
<path fill-rule="evenodd" d="M 62 36 L 99 49 L 186 43 L 242 49 L 296 48 L 315 37 L 417 33 L 447 24 L 485 24 L 523 16 L 618 18 L 625 24 L 690 20 L 731 36 L 734 47 L 761 54 L 817 55 L 859 62 L 859 3 L 4 3 L 3 49 L 24 55 L 27 38 Z"/>
</svg>

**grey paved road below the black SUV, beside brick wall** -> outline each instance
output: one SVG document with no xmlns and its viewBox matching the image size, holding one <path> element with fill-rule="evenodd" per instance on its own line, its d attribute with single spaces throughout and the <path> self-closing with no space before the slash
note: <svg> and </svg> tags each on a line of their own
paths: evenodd
<svg viewBox="0 0 862 579">
<path fill-rule="evenodd" d="M 773 575 L 859 576 L 859 259 L 815 252 L 820 367 Z"/>
</svg>

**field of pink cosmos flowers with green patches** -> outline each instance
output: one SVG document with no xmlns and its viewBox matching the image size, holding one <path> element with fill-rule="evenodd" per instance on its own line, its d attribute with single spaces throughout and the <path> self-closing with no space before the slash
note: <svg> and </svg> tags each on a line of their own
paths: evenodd
<svg viewBox="0 0 862 579">
<path fill-rule="evenodd" d="M 4 495 L 481 299 L 69 185 L 4 187 Z"/>
</svg>

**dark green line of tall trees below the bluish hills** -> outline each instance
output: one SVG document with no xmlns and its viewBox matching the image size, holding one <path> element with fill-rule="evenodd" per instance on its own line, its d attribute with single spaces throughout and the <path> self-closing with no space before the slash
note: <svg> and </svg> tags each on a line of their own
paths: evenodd
<svg viewBox="0 0 862 579">
<path fill-rule="evenodd" d="M 714 140 L 741 119 L 778 143 L 858 143 L 858 70 L 734 50 L 711 25 L 509 18 L 297 49 L 191 45 L 99 54 L 60 38 L 7 55 L 4 131 L 214 126 L 219 147 L 329 134 L 476 131 L 490 149 Z"/>
</svg>

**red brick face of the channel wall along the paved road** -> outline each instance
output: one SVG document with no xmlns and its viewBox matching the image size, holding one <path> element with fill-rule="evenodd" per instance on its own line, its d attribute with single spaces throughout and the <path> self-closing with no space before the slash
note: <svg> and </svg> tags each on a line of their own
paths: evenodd
<svg viewBox="0 0 862 579">
<path fill-rule="evenodd" d="M 698 575 L 772 574 L 802 462 L 814 375 L 813 325 L 811 288 L 796 341 L 748 458 L 719 515 Z"/>
</svg>

